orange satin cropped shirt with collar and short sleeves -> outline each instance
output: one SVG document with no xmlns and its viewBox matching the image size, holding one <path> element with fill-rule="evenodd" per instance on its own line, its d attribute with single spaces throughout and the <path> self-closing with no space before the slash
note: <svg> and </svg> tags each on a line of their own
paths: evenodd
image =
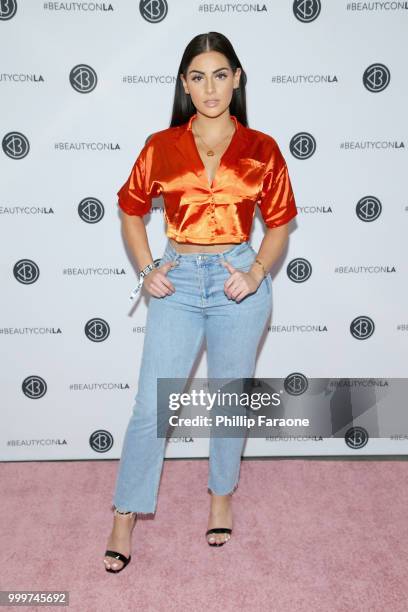
<svg viewBox="0 0 408 612">
<path fill-rule="evenodd" d="M 162 195 L 167 236 L 201 244 L 248 240 L 256 204 L 267 227 L 297 215 L 286 162 L 274 138 L 230 115 L 236 130 L 210 185 L 191 129 L 196 117 L 155 132 L 145 143 L 118 191 L 125 213 L 145 215 L 152 198 Z"/>
</svg>

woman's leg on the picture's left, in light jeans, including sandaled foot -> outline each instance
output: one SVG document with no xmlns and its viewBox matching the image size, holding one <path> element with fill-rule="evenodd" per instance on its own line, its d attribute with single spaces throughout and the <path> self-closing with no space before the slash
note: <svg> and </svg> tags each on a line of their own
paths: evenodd
<svg viewBox="0 0 408 612">
<path fill-rule="evenodd" d="M 176 294 L 150 298 L 138 391 L 125 433 L 113 498 L 119 511 L 156 510 L 166 442 L 164 437 L 157 436 L 157 379 L 187 379 L 203 336 L 204 323 L 198 309 L 178 304 Z M 133 514 L 115 513 L 107 549 L 129 556 L 134 519 Z M 104 561 L 108 569 L 123 566 L 122 561 L 112 557 L 105 557 Z"/>
</svg>

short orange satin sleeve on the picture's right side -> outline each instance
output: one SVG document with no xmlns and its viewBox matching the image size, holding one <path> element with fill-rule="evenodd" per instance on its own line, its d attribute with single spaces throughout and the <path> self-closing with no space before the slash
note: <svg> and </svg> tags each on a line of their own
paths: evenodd
<svg viewBox="0 0 408 612">
<path fill-rule="evenodd" d="M 259 208 L 271 228 L 285 225 L 298 214 L 286 161 L 276 142 L 266 165 Z"/>
</svg>

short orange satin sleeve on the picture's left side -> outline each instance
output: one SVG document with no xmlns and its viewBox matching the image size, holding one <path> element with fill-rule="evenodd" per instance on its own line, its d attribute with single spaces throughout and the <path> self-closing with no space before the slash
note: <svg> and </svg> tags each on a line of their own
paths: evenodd
<svg viewBox="0 0 408 612">
<path fill-rule="evenodd" d="M 152 205 L 151 194 L 147 185 L 147 143 L 141 150 L 127 181 L 118 191 L 119 207 L 128 215 L 142 217 L 146 215 Z"/>
</svg>

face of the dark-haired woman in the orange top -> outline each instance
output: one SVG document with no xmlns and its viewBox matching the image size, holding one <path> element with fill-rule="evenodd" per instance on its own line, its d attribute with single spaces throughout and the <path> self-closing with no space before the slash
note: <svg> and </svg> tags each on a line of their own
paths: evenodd
<svg viewBox="0 0 408 612">
<path fill-rule="evenodd" d="M 207 51 L 196 55 L 181 80 L 197 111 L 216 117 L 229 107 L 240 74 L 241 69 L 237 68 L 234 75 L 225 55 Z"/>
</svg>

